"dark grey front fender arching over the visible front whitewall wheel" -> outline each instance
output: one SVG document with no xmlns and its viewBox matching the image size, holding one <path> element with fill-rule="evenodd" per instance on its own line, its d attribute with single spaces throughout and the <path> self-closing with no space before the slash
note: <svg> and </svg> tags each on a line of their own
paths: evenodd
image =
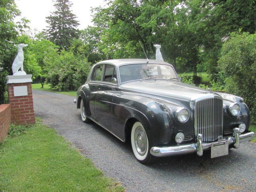
<svg viewBox="0 0 256 192">
<path fill-rule="evenodd" d="M 114 96 L 113 103 L 113 127 L 122 125 L 122 130 L 125 130 L 127 121 L 130 118 L 136 118 L 146 129 L 148 139 L 152 145 L 171 142 L 174 132 L 173 120 L 170 111 L 164 104 L 154 98 L 130 92 L 120 92 L 120 94 Z M 125 138 L 125 136 L 121 138 Z"/>
</svg>

